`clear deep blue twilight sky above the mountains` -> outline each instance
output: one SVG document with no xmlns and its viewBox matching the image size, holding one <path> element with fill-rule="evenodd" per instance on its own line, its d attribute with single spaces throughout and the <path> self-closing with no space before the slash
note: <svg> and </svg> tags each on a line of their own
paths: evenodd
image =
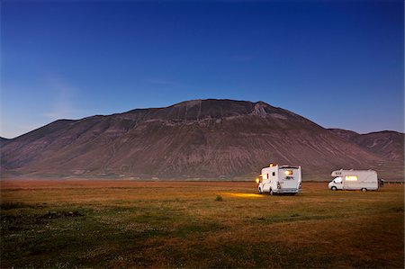
<svg viewBox="0 0 405 269">
<path fill-rule="evenodd" d="M 400 1 L 1 1 L 1 131 L 190 99 L 403 131 Z"/>
</svg>

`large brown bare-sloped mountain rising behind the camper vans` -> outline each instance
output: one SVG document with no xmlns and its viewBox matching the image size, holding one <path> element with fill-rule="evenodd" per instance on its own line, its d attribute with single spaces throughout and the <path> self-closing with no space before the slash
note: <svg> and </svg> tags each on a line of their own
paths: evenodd
<svg viewBox="0 0 405 269">
<path fill-rule="evenodd" d="M 208 99 L 54 121 L 8 141 L 1 166 L 3 177 L 250 179 L 274 162 L 328 180 L 340 167 L 403 165 L 374 149 L 264 102 Z"/>
</svg>

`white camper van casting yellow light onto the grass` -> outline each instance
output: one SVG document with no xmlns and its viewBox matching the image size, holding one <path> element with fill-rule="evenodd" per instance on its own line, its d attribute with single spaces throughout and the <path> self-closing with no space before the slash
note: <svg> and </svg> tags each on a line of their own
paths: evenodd
<svg viewBox="0 0 405 269">
<path fill-rule="evenodd" d="M 262 169 L 257 178 L 257 190 L 261 193 L 289 193 L 296 194 L 301 191 L 301 166 L 278 166 L 270 164 Z"/>
</svg>

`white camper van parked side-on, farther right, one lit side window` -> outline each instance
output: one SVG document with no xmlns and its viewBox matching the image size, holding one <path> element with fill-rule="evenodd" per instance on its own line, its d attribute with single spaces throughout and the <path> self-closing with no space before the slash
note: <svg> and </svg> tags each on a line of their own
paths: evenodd
<svg viewBox="0 0 405 269">
<path fill-rule="evenodd" d="M 377 172 L 374 170 L 336 170 L 332 176 L 336 176 L 330 183 L 329 189 L 337 190 L 361 190 L 363 192 L 378 190 Z"/>
</svg>

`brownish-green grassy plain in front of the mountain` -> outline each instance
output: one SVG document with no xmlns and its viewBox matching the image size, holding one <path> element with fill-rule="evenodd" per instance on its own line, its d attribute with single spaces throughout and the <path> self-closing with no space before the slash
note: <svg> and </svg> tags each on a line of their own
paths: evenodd
<svg viewBox="0 0 405 269">
<path fill-rule="evenodd" d="M 1 267 L 404 267 L 404 189 L 2 181 Z M 221 197 L 221 199 L 218 198 Z"/>
</svg>

